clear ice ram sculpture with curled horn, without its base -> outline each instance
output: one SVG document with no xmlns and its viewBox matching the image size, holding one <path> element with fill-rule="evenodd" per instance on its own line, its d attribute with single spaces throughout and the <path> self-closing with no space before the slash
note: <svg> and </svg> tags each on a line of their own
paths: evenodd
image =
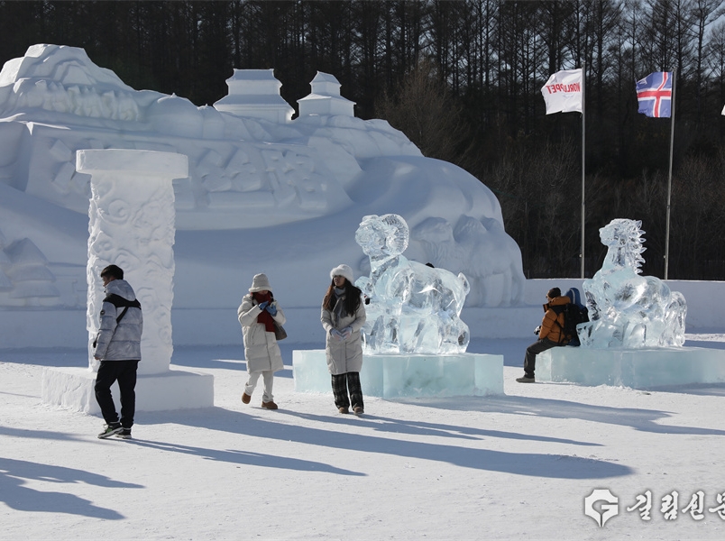
<svg viewBox="0 0 725 541">
<path fill-rule="evenodd" d="M 368 215 L 355 242 L 370 258 L 370 277 L 355 285 L 365 307 L 363 351 L 383 353 L 465 353 L 470 340 L 461 309 L 470 291 L 463 274 L 435 269 L 401 255 L 408 247 L 408 224 L 400 215 Z"/>
</svg>

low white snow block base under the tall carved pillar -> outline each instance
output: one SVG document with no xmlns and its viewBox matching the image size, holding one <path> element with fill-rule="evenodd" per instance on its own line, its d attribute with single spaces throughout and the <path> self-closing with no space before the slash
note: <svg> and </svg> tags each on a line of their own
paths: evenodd
<svg viewBox="0 0 725 541">
<path fill-rule="evenodd" d="M 100 415 L 96 402 L 96 372 L 87 368 L 46 368 L 42 372 L 41 399 L 45 404 Z M 111 387 L 115 408 L 121 412 L 118 385 Z M 136 411 L 165 411 L 214 407 L 214 376 L 170 370 L 139 374 Z"/>
</svg>

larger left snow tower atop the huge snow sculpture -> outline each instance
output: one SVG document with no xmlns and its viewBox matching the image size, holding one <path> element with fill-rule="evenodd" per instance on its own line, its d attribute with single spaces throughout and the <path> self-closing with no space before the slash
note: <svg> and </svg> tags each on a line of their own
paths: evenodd
<svg viewBox="0 0 725 541">
<path fill-rule="evenodd" d="M 234 69 L 226 85 L 229 94 L 214 104 L 217 111 L 278 124 L 292 120 L 295 110 L 280 96 L 282 83 L 273 69 Z"/>
</svg>

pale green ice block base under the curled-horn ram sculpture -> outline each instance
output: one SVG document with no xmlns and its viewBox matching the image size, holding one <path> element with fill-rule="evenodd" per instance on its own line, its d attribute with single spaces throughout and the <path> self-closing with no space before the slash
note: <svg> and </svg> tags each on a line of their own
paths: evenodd
<svg viewBox="0 0 725 541">
<path fill-rule="evenodd" d="M 325 350 L 294 350 L 292 368 L 296 391 L 332 392 Z M 365 355 L 360 381 L 383 399 L 503 394 L 503 355 Z"/>
</svg>

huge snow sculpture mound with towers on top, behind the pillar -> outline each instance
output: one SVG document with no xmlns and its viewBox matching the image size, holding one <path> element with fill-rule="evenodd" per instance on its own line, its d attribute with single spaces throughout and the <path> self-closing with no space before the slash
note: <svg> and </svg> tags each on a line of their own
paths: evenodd
<svg viewBox="0 0 725 541">
<path fill-rule="evenodd" d="M 86 149 L 188 157 L 188 177 L 173 181 L 176 307 L 228 309 L 238 302 L 229 283 L 261 267 L 281 269 L 290 254 L 295 280 L 282 280 L 280 293 L 288 305 L 317 307 L 316 289 L 298 283 L 317 283 L 337 260 L 367 273 L 369 261 L 352 234 L 360 216 L 387 213 L 410 227 L 408 259 L 463 272 L 471 285 L 467 307 L 520 305 L 519 247 L 504 231 L 498 200 L 478 179 L 426 158 L 384 120 L 355 118 L 353 102 L 330 74 L 313 79 L 294 120 L 271 69 L 235 70 L 227 84 L 229 96 L 216 107 L 197 107 L 182 96 L 134 90 L 74 47 L 34 45 L 6 62 L 0 230 L 5 247 L 25 237 L 38 247 L 60 297 L 12 298 L 0 276 L 1 309 L 85 308 L 91 190 L 75 160 Z M 226 250 L 208 249 L 221 237 Z M 261 241 L 270 237 L 273 250 Z M 243 256 L 251 246 L 253 259 Z M 3 265 L 9 276 L 13 264 Z M 204 294 L 194 287 L 199 272 Z"/>
</svg>

